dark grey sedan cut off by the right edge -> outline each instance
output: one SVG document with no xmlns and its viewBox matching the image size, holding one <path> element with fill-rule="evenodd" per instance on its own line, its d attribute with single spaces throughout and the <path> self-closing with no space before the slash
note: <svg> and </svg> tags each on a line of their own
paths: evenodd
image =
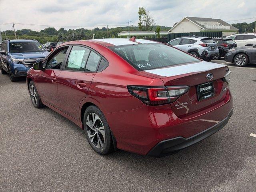
<svg viewBox="0 0 256 192">
<path fill-rule="evenodd" d="M 230 49 L 225 56 L 225 61 L 239 67 L 244 67 L 249 62 L 256 64 L 256 44 Z"/>
</svg>

